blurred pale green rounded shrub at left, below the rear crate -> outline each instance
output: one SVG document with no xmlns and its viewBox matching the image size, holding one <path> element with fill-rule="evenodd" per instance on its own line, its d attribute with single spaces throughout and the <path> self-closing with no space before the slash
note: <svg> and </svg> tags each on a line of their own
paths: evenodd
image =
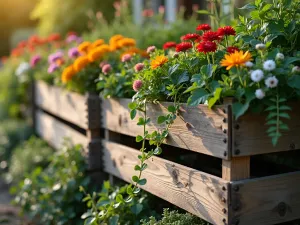
<svg viewBox="0 0 300 225">
<path fill-rule="evenodd" d="M 9 165 L 9 178 L 14 183 L 24 179 L 36 167 L 45 168 L 49 164 L 49 156 L 54 150 L 49 145 L 35 136 L 21 143 L 13 150 Z"/>
</svg>

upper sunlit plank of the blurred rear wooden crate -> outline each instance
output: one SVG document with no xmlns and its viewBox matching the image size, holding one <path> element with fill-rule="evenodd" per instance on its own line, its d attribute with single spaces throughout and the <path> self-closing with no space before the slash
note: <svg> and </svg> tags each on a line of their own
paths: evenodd
<svg viewBox="0 0 300 225">
<path fill-rule="evenodd" d="M 37 107 L 81 128 L 88 128 L 87 97 L 37 81 L 35 101 Z"/>
</svg>

